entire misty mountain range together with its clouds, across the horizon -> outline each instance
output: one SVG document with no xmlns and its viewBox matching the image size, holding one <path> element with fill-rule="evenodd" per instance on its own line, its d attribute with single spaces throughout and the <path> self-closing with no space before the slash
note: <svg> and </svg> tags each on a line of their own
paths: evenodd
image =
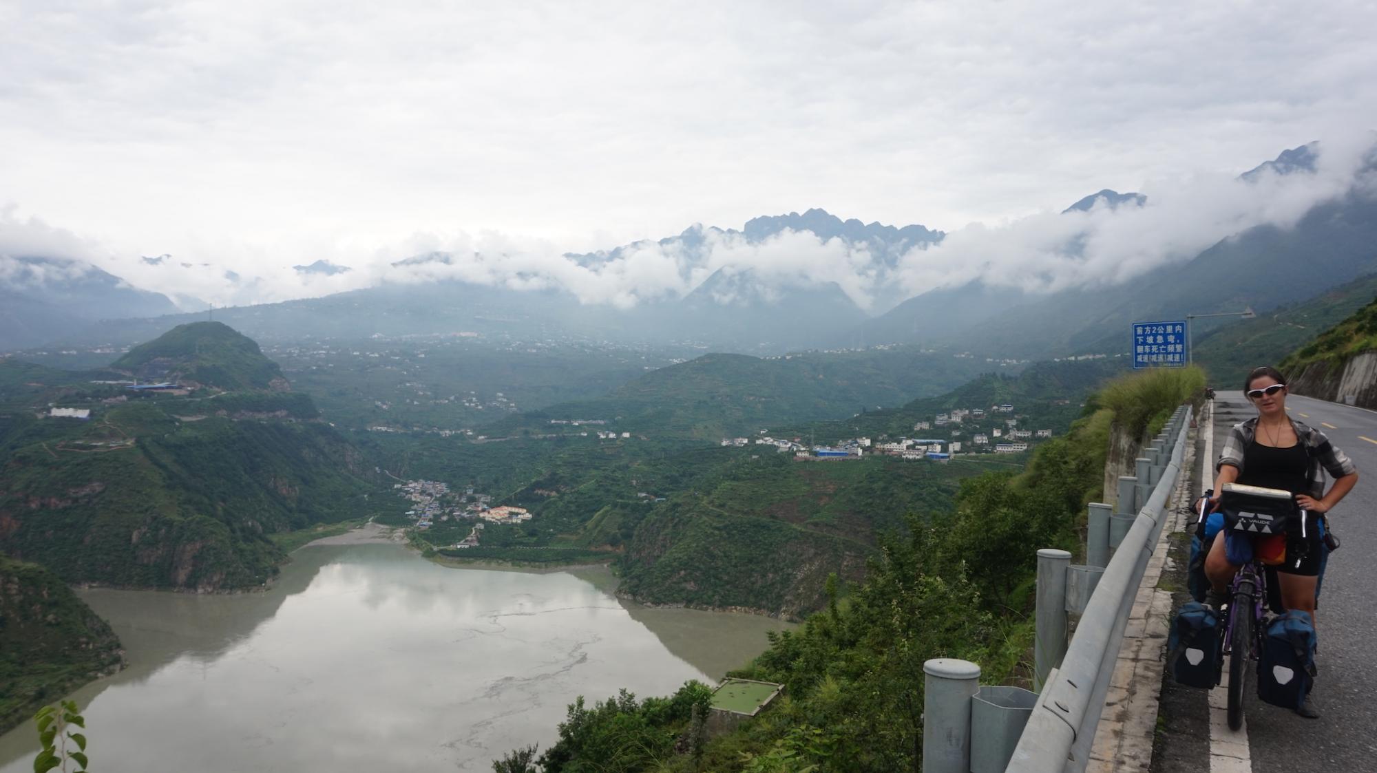
<svg viewBox="0 0 1377 773">
<path fill-rule="evenodd" d="M 887 342 L 997 356 L 1118 348 L 1115 336 L 1133 318 L 1226 301 L 1265 311 L 1373 270 L 1377 164 L 1363 139 L 1290 149 L 1235 176 L 1144 193 L 1104 188 L 1000 227 L 943 232 L 808 209 L 756 217 L 739 230 L 694 224 L 593 253 L 464 237 L 359 267 L 299 264 L 292 274 L 322 287 L 366 286 L 215 314 L 266 340 L 470 331 L 756 353 Z M 222 271 L 171 256 L 140 264 Z M 224 275 L 244 290 L 266 282 Z M 1276 276 L 1292 281 L 1279 285 Z M 118 315 L 171 307 L 164 296 L 138 297 L 145 303 Z M 87 322 L 91 308 L 72 319 Z M 67 320 L 15 340 L 134 342 L 191 319 L 84 331 Z"/>
</svg>

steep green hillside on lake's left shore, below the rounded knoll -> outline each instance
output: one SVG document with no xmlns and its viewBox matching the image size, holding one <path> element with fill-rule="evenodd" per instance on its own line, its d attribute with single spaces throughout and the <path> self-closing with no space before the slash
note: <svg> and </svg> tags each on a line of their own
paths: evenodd
<svg viewBox="0 0 1377 773">
<path fill-rule="evenodd" d="M 182 421 L 178 406 L 0 415 L 0 552 L 74 583 L 248 587 L 284 558 L 270 534 L 362 512 L 373 486 L 329 426 Z"/>
</svg>

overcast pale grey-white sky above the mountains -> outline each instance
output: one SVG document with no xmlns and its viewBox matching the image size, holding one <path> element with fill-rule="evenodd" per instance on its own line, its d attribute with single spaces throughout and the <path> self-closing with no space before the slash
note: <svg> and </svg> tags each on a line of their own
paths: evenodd
<svg viewBox="0 0 1377 773">
<path fill-rule="evenodd" d="M 154 285 L 138 256 L 558 256 L 811 206 L 1011 242 L 1377 127 L 1367 1 L 11 0 L 0 26 L 0 220 Z"/>
</svg>

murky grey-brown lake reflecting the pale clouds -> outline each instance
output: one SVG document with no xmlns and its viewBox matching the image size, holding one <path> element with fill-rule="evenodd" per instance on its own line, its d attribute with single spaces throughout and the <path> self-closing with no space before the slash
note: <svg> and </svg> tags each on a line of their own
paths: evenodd
<svg viewBox="0 0 1377 773">
<path fill-rule="evenodd" d="M 598 574 L 603 572 L 603 574 Z M 98 770 L 489 770 L 577 695 L 712 681 L 782 623 L 622 605 L 605 569 L 453 569 L 307 547 L 267 593 L 90 590 L 129 668 L 77 690 Z M 32 726 L 0 773 L 32 769 Z"/>
</svg>

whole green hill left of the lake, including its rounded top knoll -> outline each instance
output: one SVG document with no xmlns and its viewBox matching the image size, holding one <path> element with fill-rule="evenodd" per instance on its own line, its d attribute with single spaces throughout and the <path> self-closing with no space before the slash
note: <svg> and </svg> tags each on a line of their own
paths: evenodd
<svg viewBox="0 0 1377 773">
<path fill-rule="evenodd" d="M 73 583 L 255 587 L 285 560 L 271 534 L 368 513 L 372 465 L 311 421 L 308 396 L 274 389 L 285 380 L 252 340 L 185 325 L 116 364 L 182 388 L 0 362 L 0 554 Z"/>
</svg>

